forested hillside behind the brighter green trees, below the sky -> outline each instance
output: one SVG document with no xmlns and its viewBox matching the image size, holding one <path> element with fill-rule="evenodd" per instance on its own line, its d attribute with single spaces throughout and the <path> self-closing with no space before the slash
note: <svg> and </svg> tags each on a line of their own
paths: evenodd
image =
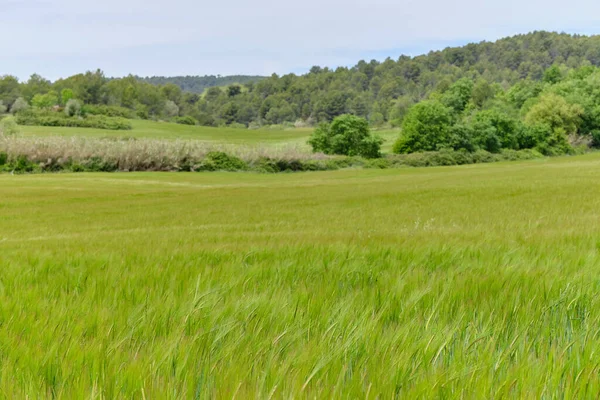
<svg viewBox="0 0 600 400">
<path fill-rule="evenodd" d="M 157 86 L 135 76 L 107 79 L 101 71 L 53 83 L 38 75 L 27 82 L 4 76 L 0 79 L 3 103 L 0 112 L 2 108 L 14 111 L 28 106 L 46 109 L 66 106 L 70 99 L 75 99 L 83 105 L 99 106 L 88 107 L 95 113 L 211 126 L 316 125 L 346 113 L 365 117 L 372 126 L 400 126 L 414 104 L 438 99 L 451 109 L 448 118 L 453 125 L 459 120 L 470 121 L 473 110 L 494 109 L 502 115 L 523 119 L 521 108 L 526 105 L 529 110 L 538 102 L 539 96 L 549 91 L 544 85 L 596 77 L 598 72 L 588 67 L 598 65 L 600 36 L 534 32 L 417 57 L 360 61 L 349 68 L 313 67 L 305 75 L 273 75 L 241 86 L 212 87 L 203 94 L 181 89 L 183 86 L 192 90 L 193 79 L 188 78 L 181 81 L 173 78 L 173 82 Z M 161 79 L 150 78 L 150 81 L 161 83 Z M 457 82 L 462 84 L 456 86 Z M 595 83 L 588 86 L 585 102 L 592 104 L 595 100 L 590 93 L 596 86 Z M 572 105 L 575 100 L 571 94 L 575 89 L 571 94 L 565 92 L 569 90 L 554 91 Z M 452 93 L 458 97 L 452 99 Z M 548 101 L 547 97 L 544 101 Z M 585 107 L 592 112 L 591 105 Z M 586 120 L 589 122 L 590 118 Z M 573 126 L 579 127 L 576 122 Z M 591 129 L 591 125 L 586 129 Z"/>
</svg>

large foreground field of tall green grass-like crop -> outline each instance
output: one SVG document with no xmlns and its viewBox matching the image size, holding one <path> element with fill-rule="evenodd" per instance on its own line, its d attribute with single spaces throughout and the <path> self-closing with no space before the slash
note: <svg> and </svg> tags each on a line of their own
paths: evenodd
<svg viewBox="0 0 600 400">
<path fill-rule="evenodd" d="M 0 396 L 595 397 L 598 176 L 0 175 Z"/>
</svg>

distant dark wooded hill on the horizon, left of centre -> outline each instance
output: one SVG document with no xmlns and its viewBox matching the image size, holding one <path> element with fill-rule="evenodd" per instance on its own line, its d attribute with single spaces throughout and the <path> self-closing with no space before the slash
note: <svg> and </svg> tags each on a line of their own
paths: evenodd
<svg viewBox="0 0 600 400">
<path fill-rule="evenodd" d="M 205 89 L 215 86 L 227 86 L 233 83 L 244 84 L 248 82 L 258 82 L 265 79 L 263 76 L 252 75 L 231 75 L 231 76 L 152 76 L 136 78 L 142 82 L 147 82 L 153 85 L 165 85 L 174 83 L 179 86 L 184 92 L 203 93 Z"/>
</svg>

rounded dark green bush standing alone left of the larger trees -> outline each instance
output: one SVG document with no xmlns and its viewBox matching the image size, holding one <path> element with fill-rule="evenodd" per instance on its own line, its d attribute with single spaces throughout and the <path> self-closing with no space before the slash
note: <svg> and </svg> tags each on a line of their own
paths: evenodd
<svg viewBox="0 0 600 400">
<path fill-rule="evenodd" d="M 315 152 L 377 158 L 381 156 L 383 140 L 371 134 L 366 119 L 346 114 L 331 124 L 322 123 L 308 143 Z"/>
</svg>

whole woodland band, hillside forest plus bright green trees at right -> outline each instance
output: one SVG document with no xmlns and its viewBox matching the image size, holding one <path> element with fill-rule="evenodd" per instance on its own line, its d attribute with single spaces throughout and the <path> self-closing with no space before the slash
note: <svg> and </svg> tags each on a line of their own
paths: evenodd
<svg viewBox="0 0 600 400">
<path fill-rule="evenodd" d="M 182 90 L 101 71 L 56 82 L 33 75 L 0 79 L 0 112 L 153 118 L 207 126 L 316 126 L 343 114 L 371 126 L 402 126 L 396 152 L 440 148 L 499 151 L 569 149 L 568 137 L 600 138 L 600 36 L 534 32 L 447 48 L 418 57 L 360 61 L 351 68 L 313 67 L 301 76 Z M 150 79 L 160 83 L 162 78 Z M 175 82 L 175 83 L 173 83 Z M 191 89 L 190 89 L 191 90 Z M 67 107 L 71 101 L 72 107 Z M 74 102 L 77 103 L 74 103 Z M 31 115 L 22 118 L 35 123 Z"/>
</svg>

